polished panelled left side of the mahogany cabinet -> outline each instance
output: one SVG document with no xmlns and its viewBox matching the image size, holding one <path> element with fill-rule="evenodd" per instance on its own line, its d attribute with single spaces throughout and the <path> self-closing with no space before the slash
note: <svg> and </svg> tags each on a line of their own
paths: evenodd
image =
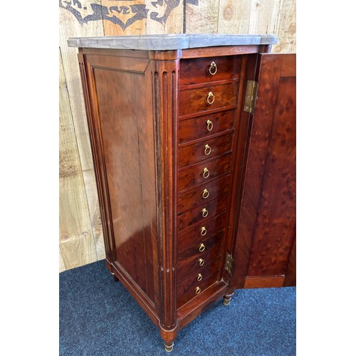
<svg viewBox="0 0 356 356">
<path fill-rule="evenodd" d="M 110 56 L 108 56 L 110 54 Z M 159 325 L 152 73 L 147 52 L 81 49 L 106 264 Z M 83 66 L 83 64 L 84 66 Z M 120 199 L 119 199 L 120 197 Z M 130 256 L 136 256 L 132 263 Z"/>
</svg>

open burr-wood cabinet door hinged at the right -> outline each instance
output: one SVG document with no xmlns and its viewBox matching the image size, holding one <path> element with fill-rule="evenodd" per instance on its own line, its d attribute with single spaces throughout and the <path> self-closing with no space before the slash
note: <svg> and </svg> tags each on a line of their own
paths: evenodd
<svg viewBox="0 0 356 356">
<path fill-rule="evenodd" d="M 295 286 L 295 58 L 259 58 L 231 289 Z"/>
</svg>

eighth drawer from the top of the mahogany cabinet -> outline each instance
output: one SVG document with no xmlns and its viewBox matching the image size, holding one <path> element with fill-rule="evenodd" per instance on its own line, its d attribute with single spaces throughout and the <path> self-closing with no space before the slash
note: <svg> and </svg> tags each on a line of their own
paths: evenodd
<svg viewBox="0 0 356 356">
<path fill-rule="evenodd" d="M 187 258 L 187 254 L 189 254 L 187 250 L 192 248 L 192 246 L 198 246 L 202 239 L 207 239 L 209 236 L 214 235 L 214 239 L 221 239 L 221 236 L 224 236 L 225 224 L 226 214 L 224 213 L 215 216 L 213 219 L 204 221 L 204 224 L 194 226 L 194 228 L 184 232 L 184 234 L 178 234 L 179 256 L 182 256 L 183 259 Z M 201 234 L 204 234 L 204 236 Z"/>
</svg>

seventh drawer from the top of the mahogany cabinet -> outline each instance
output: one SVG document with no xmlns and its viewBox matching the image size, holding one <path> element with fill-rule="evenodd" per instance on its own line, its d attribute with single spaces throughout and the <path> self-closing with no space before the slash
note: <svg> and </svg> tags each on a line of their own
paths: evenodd
<svg viewBox="0 0 356 356">
<path fill-rule="evenodd" d="M 189 227 L 192 224 L 195 224 L 201 221 L 204 224 L 204 221 L 208 220 L 211 216 L 215 216 L 217 214 L 226 211 L 226 203 L 228 200 L 228 196 L 219 197 L 219 199 L 214 199 L 206 204 L 197 206 L 192 210 L 188 210 L 183 214 L 180 214 L 177 217 L 178 221 L 178 229 L 183 230 Z"/>
</svg>

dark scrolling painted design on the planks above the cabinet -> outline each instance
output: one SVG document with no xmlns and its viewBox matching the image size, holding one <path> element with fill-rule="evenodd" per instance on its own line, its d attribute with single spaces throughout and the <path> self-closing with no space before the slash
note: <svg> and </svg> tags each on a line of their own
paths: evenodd
<svg viewBox="0 0 356 356">
<path fill-rule="evenodd" d="M 83 5 L 84 1 L 59 0 L 59 7 L 70 11 L 82 26 L 89 21 L 108 20 L 125 31 L 132 23 L 143 19 L 166 23 L 169 14 L 182 1 L 184 0 L 99 0 L 90 4 L 85 1 Z M 198 5 L 199 0 L 185 0 L 185 4 Z"/>
</svg>

